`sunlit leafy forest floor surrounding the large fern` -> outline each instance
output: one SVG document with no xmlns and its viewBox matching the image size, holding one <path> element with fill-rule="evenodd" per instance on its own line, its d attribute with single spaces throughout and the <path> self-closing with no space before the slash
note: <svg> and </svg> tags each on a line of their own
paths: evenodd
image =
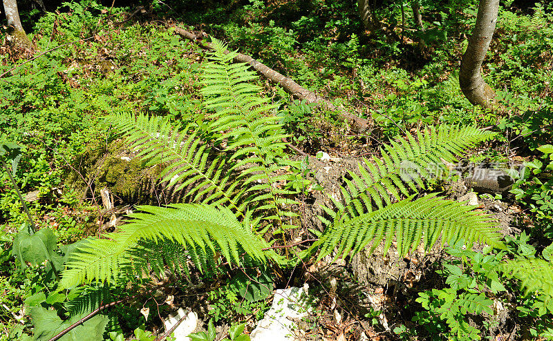
<svg viewBox="0 0 553 341">
<path fill-rule="evenodd" d="M 68 244 L 119 231 L 138 205 L 182 201 L 185 191 L 160 182 L 160 166 L 137 157 L 120 132 L 102 121 L 113 113 L 145 113 L 203 126 L 199 90 L 207 51 L 176 35 L 171 26 L 177 25 L 227 41 L 229 50 L 252 56 L 371 124 L 358 133 L 336 111 L 297 101 L 263 77 L 256 81 L 261 95 L 279 104 L 275 111 L 283 130 L 301 151 L 285 152 L 301 167 L 275 171 L 288 180 L 274 186 L 298 190 L 291 211 L 298 213 L 299 227 L 278 238 L 265 233 L 275 246 L 294 246 L 283 255 L 305 251 L 317 240 L 325 228 L 317 217 L 325 216 L 321 206 L 344 199 L 350 173 L 359 175 L 364 159 L 382 157 L 384 144 L 427 126 L 470 125 L 496 133 L 448 165 L 462 168 L 460 176 L 440 179 L 425 193 L 471 199 L 477 211 L 497 222 L 507 250 L 460 244 L 415 249 L 403 257 L 394 241 L 387 253 L 383 242 L 373 253 L 275 266 L 268 271 L 274 289 L 308 284 L 315 298 L 310 315 L 294 321 L 299 340 L 548 337 L 553 308 L 498 269 L 501 261 L 518 255 L 545 258 L 553 237 L 552 169 L 548 154 L 539 149 L 553 141 L 551 6 L 500 10 L 483 67 L 504 105 L 492 111 L 471 106 L 458 86 L 473 5 L 426 4 L 427 45 L 420 48 L 411 14 L 409 23 L 401 22 L 407 6 L 379 7 L 383 27 L 371 32 L 359 23 L 355 8 L 341 1 L 225 1 L 221 6 L 207 1 L 204 7 L 193 2 L 159 1 L 148 8 L 71 3 L 37 19 L 30 31 L 35 51 L 17 50 L 3 39 L 0 142 L 21 146 L 16 182 L 37 229 L 54 232 L 59 255 Z M 24 15 L 24 22 L 36 18 L 32 15 L 37 14 Z M 485 176 L 485 182 L 471 178 L 471 172 L 494 165 L 526 167 L 532 175 L 507 187 L 499 179 L 507 173 Z M 24 339 L 33 329 L 35 336 L 44 331 L 38 340 L 55 335 L 57 329 L 37 326 L 29 313 L 33 307 L 55 311 L 50 318 L 68 327 L 84 311 L 133 295 L 138 298 L 106 309 L 109 322 L 100 335 L 153 340 L 162 335 L 167 315 L 184 306 L 198 313 L 196 331 L 207 331 L 211 320 L 221 339 L 237 322 L 250 333 L 275 299 L 245 300 L 230 285 L 240 272 L 224 266 L 209 274 L 193 271 L 190 277 L 86 284 L 78 293 L 60 296 L 48 262 L 30 261 L 20 269 L 12 255 L 27 218 L 6 172 L 0 173 L 0 213 L 1 341 Z M 81 292 L 93 293 L 92 299 L 88 310 L 75 312 Z M 443 310 L 451 302 L 468 302 L 470 295 L 482 298 L 485 307 L 458 307 L 453 318 L 448 315 L 453 309 Z"/>
</svg>

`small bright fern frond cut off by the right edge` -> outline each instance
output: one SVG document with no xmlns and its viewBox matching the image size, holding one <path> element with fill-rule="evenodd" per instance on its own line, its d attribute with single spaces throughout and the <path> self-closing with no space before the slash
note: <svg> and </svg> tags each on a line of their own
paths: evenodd
<svg viewBox="0 0 553 341">
<path fill-rule="evenodd" d="M 538 292 L 545 298 L 544 302 L 553 313 L 553 265 L 539 258 L 512 260 L 500 266 L 508 277 L 521 281 L 525 294 Z"/>
</svg>

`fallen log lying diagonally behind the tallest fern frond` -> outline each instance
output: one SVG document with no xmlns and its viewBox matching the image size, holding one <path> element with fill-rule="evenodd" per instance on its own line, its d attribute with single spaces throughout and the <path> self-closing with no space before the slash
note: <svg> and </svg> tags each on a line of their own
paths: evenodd
<svg viewBox="0 0 553 341">
<path fill-rule="evenodd" d="M 174 30 L 181 37 L 184 37 L 191 41 L 196 41 L 202 48 L 206 48 L 209 50 L 212 50 L 214 48 L 212 43 L 210 43 L 209 41 L 205 41 L 203 39 L 203 37 L 205 37 L 205 34 L 195 35 L 192 32 L 183 30 L 182 28 L 178 28 L 176 26 L 174 26 Z M 229 51 L 227 50 L 227 53 L 228 52 Z M 282 75 L 281 73 L 273 70 L 272 68 L 269 68 L 265 64 L 262 64 L 259 61 L 256 61 L 255 59 L 253 59 L 248 55 L 243 55 L 242 53 L 238 53 L 238 55 L 234 57 L 234 61 L 238 63 L 250 64 L 250 66 L 252 66 L 254 70 L 261 73 L 261 75 L 263 75 L 265 78 L 269 79 L 273 83 L 278 84 L 286 92 L 290 93 L 292 96 L 298 99 L 305 100 L 308 103 L 316 103 L 321 106 L 324 106 L 325 108 L 328 108 L 329 110 L 337 112 L 339 115 L 339 119 L 349 124 L 352 130 L 354 130 L 356 133 L 365 133 L 370 127 L 367 119 L 357 117 L 356 115 L 353 115 L 351 113 L 346 113 L 344 110 L 341 110 L 340 108 L 337 108 L 337 106 L 335 106 L 334 104 L 330 103 L 330 101 L 328 101 L 324 97 L 321 97 L 317 95 L 315 92 L 312 92 L 310 90 L 307 90 L 306 88 L 301 87 L 294 80 Z"/>
</svg>

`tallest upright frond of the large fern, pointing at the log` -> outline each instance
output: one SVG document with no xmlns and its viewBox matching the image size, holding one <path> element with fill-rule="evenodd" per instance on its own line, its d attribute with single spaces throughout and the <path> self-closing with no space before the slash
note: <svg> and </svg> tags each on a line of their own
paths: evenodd
<svg viewBox="0 0 553 341">
<path fill-rule="evenodd" d="M 212 110 L 207 115 L 212 119 L 210 129 L 221 132 L 219 139 L 227 142 L 225 150 L 236 161 L 234 169 L 241 169 L 246 178 L 244 185 L 250 185 L 247 201 L 259 202 L 252 209 L 269 212 L 266 219 L 277 220 L 283 226 L 283 216 L 292 214 L 282 211 L 282 207 L 295 204 L 285 196 L 296 192 L 276 186 L 285 179 L 277 175 L 277 170 L 286 159 L 283 139 L 289 137 L 274 115 L 278 104 L 270 104 L 269 98 L 259 95 L 261 87 L 251 83 L 258 77 L 247 64 L 232 63 L 236 52 L 228 52 L 217 39 L 213 44 L 211 61 L 203 68 L 201 90 L 205 108 Z"/>
</svg>

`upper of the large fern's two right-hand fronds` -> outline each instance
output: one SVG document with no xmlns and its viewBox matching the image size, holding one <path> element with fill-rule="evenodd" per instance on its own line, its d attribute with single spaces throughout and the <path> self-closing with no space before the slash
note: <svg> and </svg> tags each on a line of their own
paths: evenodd
<svg viewBox="0 0 553 341">
<path fill-rule="evenodd" d="M 338 208 L 332 217 L 355 217 L 417 192 L 417 186 L 424 188 L 429 179 L 448 172 L 444 162 L 456 161 L 456 155 L 494 134 L 470 126 L 440 126 L 418 132 L 416 139 L 408 133 L 406 138 L 384 145 L 380 148 L 382 159 L 373 157 L 359 164 L 361 177 L 350 172 L 352 180 L 346 179 L 341 190 L 345 204 L 332 199 Z"/>
</svg>

